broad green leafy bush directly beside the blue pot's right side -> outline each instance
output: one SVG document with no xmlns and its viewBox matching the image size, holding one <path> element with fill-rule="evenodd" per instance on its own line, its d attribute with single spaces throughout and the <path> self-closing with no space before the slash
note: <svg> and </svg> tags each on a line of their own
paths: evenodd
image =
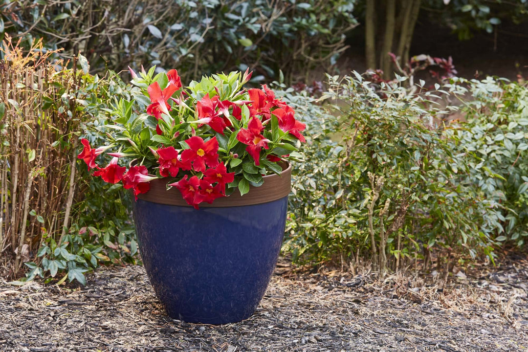
<svg viewBox="0 0 528 352">
<path fill-rule="evenodd" d="M 370 258 L 382 271 L 402 258 L 427 262 L 433 250 L 448 253 L 445 264 L 464 250 L 493 259 L 501 214 L 474 187 L 484 170 L 457 154 L 463 127 L 436 126 L 450 109 L 431 108 L 437 96 L 423 87 L 410 94 L 359 74 L 328 79 L 320 101 L 335 104 L 310 122 L 284 249 L 312 262 Z"/>
</svg>

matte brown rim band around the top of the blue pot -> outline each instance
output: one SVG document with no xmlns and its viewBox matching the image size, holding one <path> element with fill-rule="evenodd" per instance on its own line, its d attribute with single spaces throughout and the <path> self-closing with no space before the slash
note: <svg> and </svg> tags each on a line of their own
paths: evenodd
<svg viewBox="0 0 528 352">
<path fill-rule="evenodd" d="M 240 195 L 238 188 L 228 197 L 216 198 L 212 204 L 200 203 L 200 207 L 228 207 L 268 203 L 286 197 L 291 191 L 291 164 L 285 163 L 279 175 L 267 175 L 262 177 L 264 183 L 260 187 L 249 186 L 249 192 Z M 150 190 L 137 197 L 144 201 L 177 205 L 191 206 L 182 198 L 182 194 L 176 187 L 167 190 L 167 183 L 174 182 L 173 179 L 158 178 L 150 181 Z"/>
</svg>

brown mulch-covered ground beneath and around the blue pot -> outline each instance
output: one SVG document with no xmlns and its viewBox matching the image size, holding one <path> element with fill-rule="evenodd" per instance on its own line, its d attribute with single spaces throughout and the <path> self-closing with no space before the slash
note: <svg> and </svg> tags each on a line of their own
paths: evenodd
<svg viewBox="0 0 528 352">
<path fill-rule="evenodd" d="M 281 264 L 256 313 L 223 326 L 168 318 L 139 266 L 69 289 L 0 281 L 0 350 L 528 351 L 526 258 L 455 271 L 445 284 Z"/>
</svg>

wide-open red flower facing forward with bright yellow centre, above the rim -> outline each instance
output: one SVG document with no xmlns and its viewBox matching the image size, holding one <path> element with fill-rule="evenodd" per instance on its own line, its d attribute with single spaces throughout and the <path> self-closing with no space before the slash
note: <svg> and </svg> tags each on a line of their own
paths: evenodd
<svg viewBox="0 0 528 352">
<path fill-rule="evenodd" d="M 193 170 L 197 172 L 205 171 L 205 164 L 209 167 L 216 167 L 218 161 L 218 141 L 216 137 L 204 142 L 201 137 L 193 136 L 185 141 L 191 149 L 182 151 L 182 161 L 193 163 Z"/>
</svg>

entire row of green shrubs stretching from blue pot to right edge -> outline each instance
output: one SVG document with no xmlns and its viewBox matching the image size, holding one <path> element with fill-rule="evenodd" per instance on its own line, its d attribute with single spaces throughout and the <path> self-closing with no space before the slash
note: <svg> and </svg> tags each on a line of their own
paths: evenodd
<svg viewBox="0 0 528 352">
<path fill-rule="evenodd" d="M 524 83 L 455 79 L 428 91 L 422 81 L 411 94 L 405 77 L 328 79 L 319 101 L 334 104 L 312 105 L 309 163 L 294 173 L 284 246 L 294 260 L 397 270 L 422 258 L 427 269 L 436 252 L 449 269 L 464 254 L 494 261 L 506 239 L 523 244 Z M 468 121 L 432 108 L 441 96 L 463 99 Z"/>
</svg>

